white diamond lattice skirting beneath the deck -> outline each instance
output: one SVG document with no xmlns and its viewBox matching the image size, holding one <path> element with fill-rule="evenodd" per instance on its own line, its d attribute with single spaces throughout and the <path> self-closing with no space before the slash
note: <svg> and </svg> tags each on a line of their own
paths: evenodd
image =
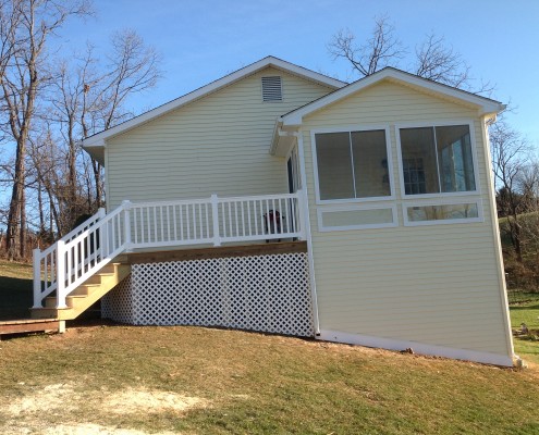
<svg viewBox="0 0 539 435">
<path fill-rule="evenodd" d="M 133 264 L 102 301 L 103 318 L 313 336 L 307 254 Z"/>
</svg>

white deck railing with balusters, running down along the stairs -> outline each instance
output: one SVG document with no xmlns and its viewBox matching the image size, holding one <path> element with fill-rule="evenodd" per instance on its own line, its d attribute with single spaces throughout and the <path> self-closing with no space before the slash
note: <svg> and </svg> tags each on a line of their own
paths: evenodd
<svg viewBox="0 0 539 435">
<path fill-rule="evenodd" d="M 302 191 L 283 195 L 134 203 L 88 221 L 44 251 L 34 250 L 34 308 L 65 297 L 114 257 L 142 248 L 305 238 Z"/>
</svg>

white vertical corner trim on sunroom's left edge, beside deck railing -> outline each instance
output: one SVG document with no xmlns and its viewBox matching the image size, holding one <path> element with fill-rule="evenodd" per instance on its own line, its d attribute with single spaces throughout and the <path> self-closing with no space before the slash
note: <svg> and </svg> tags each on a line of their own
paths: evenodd
<svg viewBox="0 0 539 435">
<path fill-rule="evenodd" d="M 303 145 L 303 132 L 298 130 L 297 151 L 299 158 L 299 172 L 302 181 L 302 192 L 305 200 L 305 237 L 307 238 L 307 254 L 309 260 L 310 294 L 313 298 L 313 323 L 315 325 L 315 336 L 320 334 L 320 316 L 318 312 L 318 296 L 316 291 L 315 276 L 315 253 L 313 251 L 313 233 L 310 229 L 309 192 L 307 190 L 307 170 L 305 167 L 305 149 Z M 301 200 L 298 198 L 298 200 Z"/>
</svg>

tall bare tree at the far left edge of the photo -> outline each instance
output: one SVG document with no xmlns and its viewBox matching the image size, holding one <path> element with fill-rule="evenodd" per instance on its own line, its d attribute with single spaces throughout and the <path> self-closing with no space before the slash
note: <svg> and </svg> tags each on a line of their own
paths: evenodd
<svg viewBox="0 0 539 435">
<path fill-rule="evenodd" d="M 71 16 L 89 12 L 86 0 L 3 0 L 0 41 L 5 46 L 4 66 L 0 66 L 0 100 L 4 107 L 3 132 L 16 146 L 14 182 L 8 215 L 9 259 L 24 258 L 25 178 L 27 141 L 36 114 L 39 92 L 48 84 L 46 42 Z M 7 42 L 3 42 L 7 41 Z M 17 237 L 19 236 L 19 237 Z"/>
</svg>

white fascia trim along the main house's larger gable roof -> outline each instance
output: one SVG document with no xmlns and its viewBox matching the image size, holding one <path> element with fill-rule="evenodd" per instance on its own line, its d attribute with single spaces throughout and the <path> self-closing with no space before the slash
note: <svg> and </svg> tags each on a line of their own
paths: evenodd
<svg viewBox="0 0 539 435">
<path fill-rule="evenodd" d="M 323 86 L 329 86 L 334 89 L 342 88 L 343 86 L 346 86 L 345 82 L 338 80 L 335 78 L 328 77 L 323 74 L 316 73 L 314 71 L 304 69 L 298 65 L 294 65 L 293 63 L 285 62 L 281 59 L 277 59 L 273 57 L 267 57 L 264 58 L 255 63 L 252 63 L 250 65 L 247 65 L 241 70 L 237 70 L 222 78 L 217 79 L 216 82 L 212 82 L 206 86 L 203 86 L 201 88 L 198 88 L 189 94 L 184 95 L 183 97 L 176 98 L 175 100 L 172 100 L 166 104 L 162 104 L 154 110 L 150 110 L 146 113 L 143 113 L 142 115 L 138 115 L 136 117 L 133 117 L 132 120 L 128 120 L 122 124 L 117 125 L 115 127 L 109 128 L 105 132 L 98 133 L 94 136 L 88 137 L 87 139 L 84 139 L 83 141 L 83 147 L 102 147 L 105 146 L 106 139 L 119 135 L 121 133 L 124 133 L 133 127 L 136 127 L 140 124 L 144 124 L 155 117 L 161 116 L 166 114 L 167 112 L 170 112 L 172 110 L 179 109 L 182 105 L 185 105 L 192 101 L 195 101 L 199 98 L 203 98 L 207 96 L 208 94 L 215 92 L 216 90 L 223 88 L 225 86 L 231 85 L 234 82 L 237 82 L 246 76 L 249 76 L 252 74 L 257 73 L 260 70 L 264 70 L 266 67 L 275 67 L 278 70 L 282 70 L 284 72 L 287 72 L 293 75 L 298 75 L 301 77 L 305 77 L 309 80 L 319 83 Z"/>
</svg>

